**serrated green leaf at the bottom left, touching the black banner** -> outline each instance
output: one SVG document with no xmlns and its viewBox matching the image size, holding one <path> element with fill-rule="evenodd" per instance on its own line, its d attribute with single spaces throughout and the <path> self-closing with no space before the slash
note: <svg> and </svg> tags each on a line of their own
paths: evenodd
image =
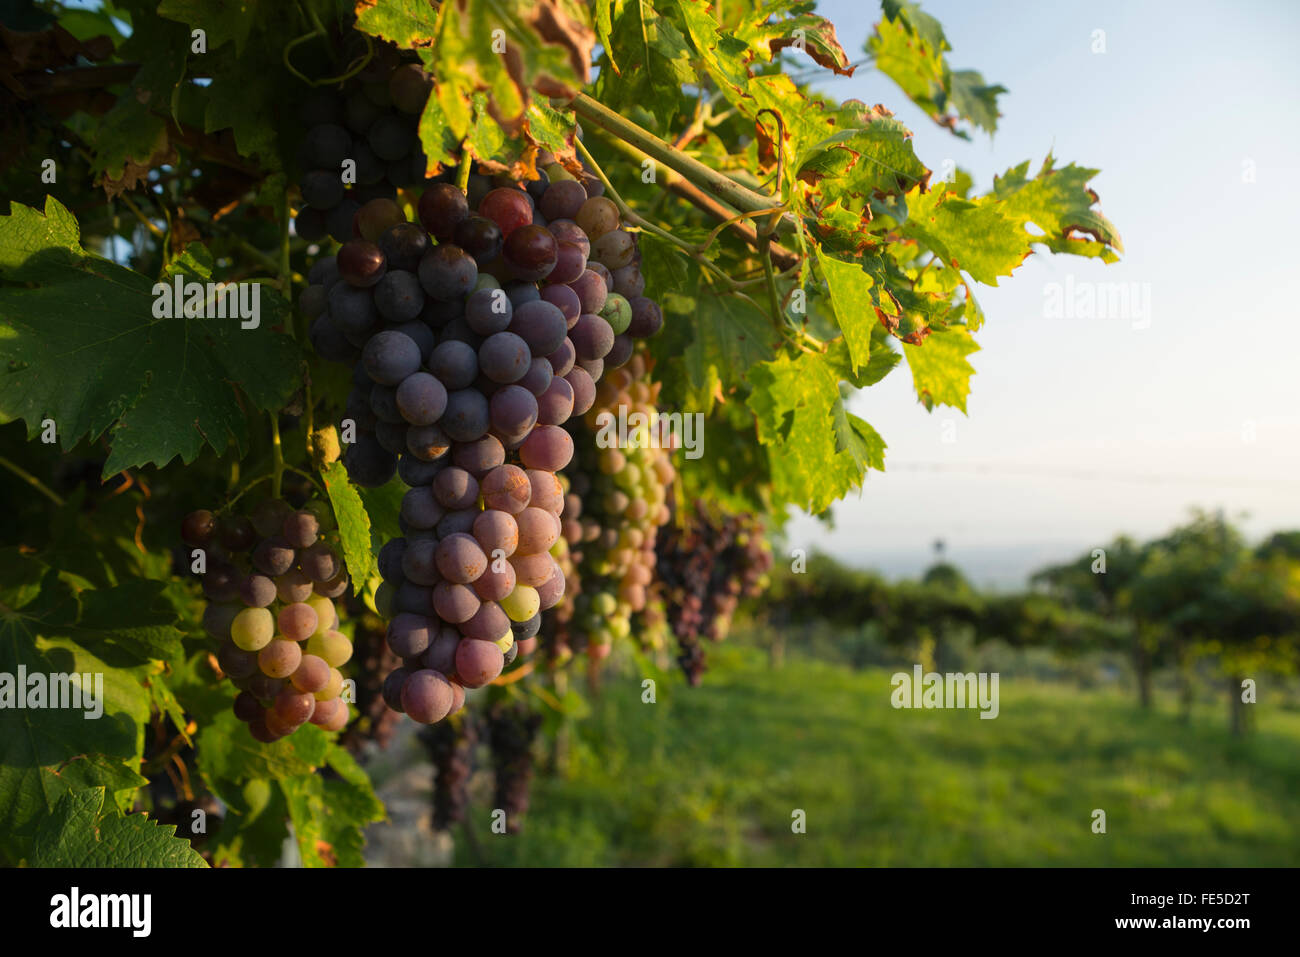
<svg viewBox="0 0 1300 957">
<path fill-rule="evenodd" d="M 69 791 L 40 822 L 34 867 L 207 867 L 174 824 L 104 807 L 104 788 Z"/>
</svg>

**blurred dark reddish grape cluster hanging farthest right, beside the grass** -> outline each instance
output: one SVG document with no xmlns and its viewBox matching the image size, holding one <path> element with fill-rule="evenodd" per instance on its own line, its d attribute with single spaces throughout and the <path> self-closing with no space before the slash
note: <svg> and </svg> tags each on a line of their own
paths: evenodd
<svg viewBox="0 0 1300 957">
<path fill-rule="evenodd" d="M 705 671 L 701 636 L 722 641 L 741 598 L 755 597 L 772 567 L 763 525 L 754 515 L 715 519 L 702 501 L 660 537 L 659 580 L 668 624 L 677 636 L 677 663 L 690 684 Z"/>
</svg>

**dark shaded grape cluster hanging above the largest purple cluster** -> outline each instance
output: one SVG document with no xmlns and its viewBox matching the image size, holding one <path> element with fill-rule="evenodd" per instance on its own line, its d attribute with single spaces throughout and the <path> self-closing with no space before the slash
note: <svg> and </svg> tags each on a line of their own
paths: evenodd
<svg viewBox="0 0 1300 957">
<path fill-rule="evenodd" d="M 303 103 L 298 235 L 343 243 L 382 231 L 380 225 L 398 208 L 398 190 L 426 179 L 429 163 L 417 127 L 432 86 L 419 62 L 404 62 L 395 47 L 378 44 L 339 91 L 321 91 Z"/>
</svg>

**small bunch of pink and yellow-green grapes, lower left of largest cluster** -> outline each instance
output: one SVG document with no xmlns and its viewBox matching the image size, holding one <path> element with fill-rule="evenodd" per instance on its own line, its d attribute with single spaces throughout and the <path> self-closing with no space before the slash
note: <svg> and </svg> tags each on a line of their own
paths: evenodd
<svg viewBox="0 0 1300 957">
<path fill-rule="evenodd" d="M 348 722 L 339 668 L 352 642 L 333 601 L 348 581 L 333 529 L 325 502 L 295 510 L 278 498 L 247 515 L 200 508 L 181 523 L 191 560 L 203 563 L 203 627 L 221 641 L 217 663 L 239 689 L 234 713 L 259 741 Z"/>
</svg>

